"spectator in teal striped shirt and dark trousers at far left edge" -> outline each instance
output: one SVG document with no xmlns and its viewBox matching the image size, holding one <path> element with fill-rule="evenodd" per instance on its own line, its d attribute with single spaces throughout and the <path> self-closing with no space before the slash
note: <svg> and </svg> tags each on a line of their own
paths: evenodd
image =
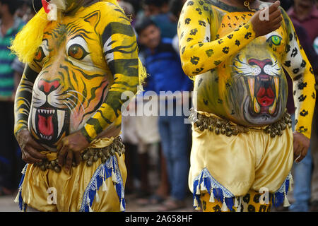
<svg viewBox="0 0 318 226">
<path fill-rule="evenodd" d="M 14 78 L 11 64 L 11 39 L 23 27 L 23 21 L 15 17 L 18 2 L 0 0 L 0 196 L 16 191 L 20 177 L 18 145 L 13 136 L 13 95 Z"/>
</svg>

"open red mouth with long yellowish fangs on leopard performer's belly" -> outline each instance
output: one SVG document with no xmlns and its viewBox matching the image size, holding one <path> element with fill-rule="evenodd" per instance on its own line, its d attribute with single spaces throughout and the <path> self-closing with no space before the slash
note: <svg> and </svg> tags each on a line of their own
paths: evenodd
<svg viewBox="0 0 318 226">
<path fill-rule="evenodd" d="M 259 76 L 250 76 L 247 81 L 254 112 L 273 114 L 277 105 L 279 78 L 260 74 Z"/>
</svg>

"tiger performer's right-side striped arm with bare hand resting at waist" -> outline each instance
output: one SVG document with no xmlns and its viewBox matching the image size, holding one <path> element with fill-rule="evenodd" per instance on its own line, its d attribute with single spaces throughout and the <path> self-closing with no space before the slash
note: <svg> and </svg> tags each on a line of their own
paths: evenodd
<svg viewBox="0 0 318 226">
<path fill-rule="evenodd" d="M 96 113 L 86 121 L 80 131 L 66 136 L 57 145 L 59 165 L 71 168 L 72 160 L 80 162 L 81 150 L 90 145 L 108 126 L 120 126 L 122 122 L 122 94 L 137 92 L 139 85 L 139 58 L 136 35 L 124 12 L 114 4 L 102 8 L 100 39 L 105 61 L 112 71 L 114 83 Z M 124 95 L 125 96 L 125 95 Z"/>
</svg>

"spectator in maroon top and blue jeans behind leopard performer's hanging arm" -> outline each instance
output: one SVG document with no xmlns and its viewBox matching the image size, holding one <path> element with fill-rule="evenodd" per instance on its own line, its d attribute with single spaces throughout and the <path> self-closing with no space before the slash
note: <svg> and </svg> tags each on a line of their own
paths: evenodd
<svg viewBox="0 0 318 226">
<path fill-rule="evenodd" d="M 317 81 L 318 56 L 313 48 L 314 38 L 318 36 L 318 10 L 314 0 L 295 0 L 294 6 L 288 10 L 288 16 L 293 22 L 299 42 L 302 45 Z M 289 90 L 293 90 L 291 82 L 288 81 Z M 293 115 L 293 94 L 289 92 L 288 110 Z M 315 107 L 312 125 L 312 140 L 307 155 L 302 162 L 293 165 L 295 202 L 290 206 L 290 211 L 310 210 L 310 198 L 312 196 L 312 210 L 318 210 L 318 147 L 317 147 L 317 106 Z M 311 189 L 311 186 L 312 189 Z"/>
</svg>

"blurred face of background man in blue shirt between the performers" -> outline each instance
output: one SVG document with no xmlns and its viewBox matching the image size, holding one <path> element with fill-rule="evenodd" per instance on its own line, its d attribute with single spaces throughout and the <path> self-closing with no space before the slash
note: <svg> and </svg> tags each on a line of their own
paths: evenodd
<svg viewBox="0 0 318 226">
<path fill-rule="evenodd" d="M 160 30 L 155 25 L 148 25 L 139 35 L 139 42 L 149 49 L 155 49 L 160 43 Z"/>
</svg>

